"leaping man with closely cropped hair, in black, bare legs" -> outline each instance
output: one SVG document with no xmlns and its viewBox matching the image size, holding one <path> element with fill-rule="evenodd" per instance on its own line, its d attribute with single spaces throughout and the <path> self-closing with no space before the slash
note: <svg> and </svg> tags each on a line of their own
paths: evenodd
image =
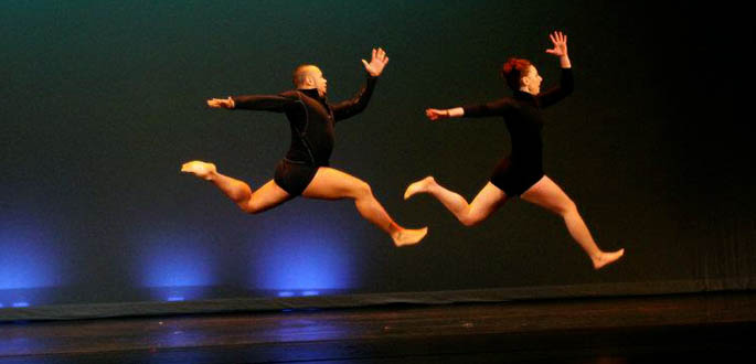
<svg viewBox="0 0 756 364">
<path fill-rule="evenodd" d="M 362 60 L 368 72 L 366 84 L 352 99 L 330 104 L 327 79 L 315 65 L 300 65 L 294 71 L 296 89 L 278 95 L 230 96 L 207 100 L 212 108 L 266 110 L 284 113 L 291 127 L 291 146 L 276 167 L 275 178 L 253 191 L 243 181 L 217 172 L 213 163 L 187 162 L 182 172 L 193 173 L 217 186 L 244 212 L 256 214 L 273 208 L 295 196 L 309 199 L 352 199 L 360 214 L 391 235 L 396 246 L 418 243 L 427 227 L 408 229 L 396 224 L 375 200 L 364 181 L 329 167 L 333 150 L 334 124 L 360 114 L 375 88 L 377 77 L 388 63 L 386 52 L 373 50 L 369 62 Z"/>
</svg>

